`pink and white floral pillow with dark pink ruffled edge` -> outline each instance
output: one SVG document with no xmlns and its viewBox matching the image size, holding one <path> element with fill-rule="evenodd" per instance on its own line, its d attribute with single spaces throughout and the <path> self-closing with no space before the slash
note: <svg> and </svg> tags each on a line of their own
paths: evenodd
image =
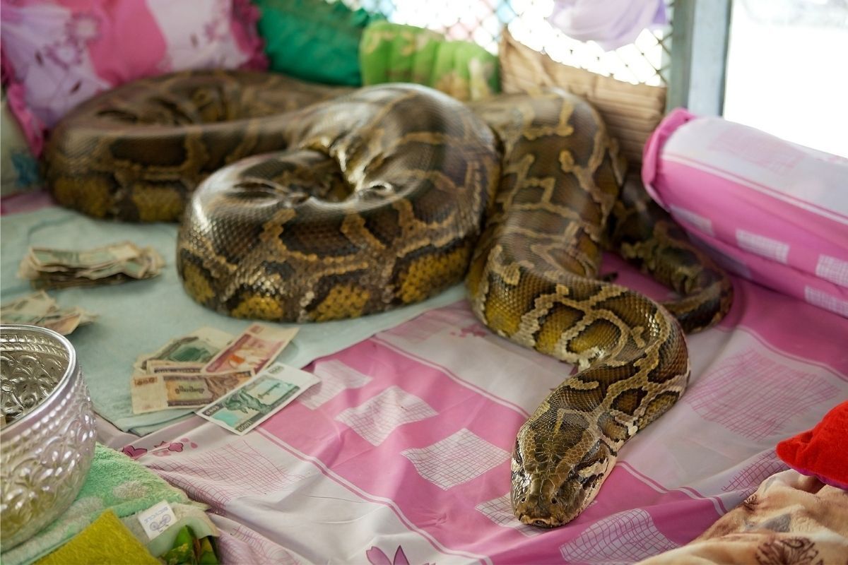
<svg viewBox="0 0 848 565">
<path fill-rule="evenodd" d="M 249 0 L 3 0 L 3 83 L 32 151 L 76 104 L 183 69 L 265 69 Z"/>
</svg>

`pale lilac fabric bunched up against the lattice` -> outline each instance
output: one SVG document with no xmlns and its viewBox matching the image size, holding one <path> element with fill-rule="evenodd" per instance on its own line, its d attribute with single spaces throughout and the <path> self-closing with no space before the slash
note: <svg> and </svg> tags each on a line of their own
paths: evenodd
<svg viewBox="0 0 848 565">
<path fill-rule="evenodd" d="M 548 21 L 566 36 L 611 51 L 668 18 L 665 0 L 556 0 Z"/>
</svg>

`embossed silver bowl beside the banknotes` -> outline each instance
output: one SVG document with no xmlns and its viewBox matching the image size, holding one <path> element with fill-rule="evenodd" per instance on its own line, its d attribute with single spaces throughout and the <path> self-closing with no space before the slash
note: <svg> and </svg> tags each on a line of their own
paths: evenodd
<svg viewBox="0 0 848 565">
<path fill-rule="evenodd" d="M 70 341 L 0 325 L 0 544 L 17 546 L 74 501 L 94 456 L 92 401 Z"/>
</svg>

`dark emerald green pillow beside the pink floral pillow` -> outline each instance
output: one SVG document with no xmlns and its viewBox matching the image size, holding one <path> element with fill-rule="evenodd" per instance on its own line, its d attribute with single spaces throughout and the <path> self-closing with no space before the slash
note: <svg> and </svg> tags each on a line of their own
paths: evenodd
<svg viewBox="0 0 848 565">
<path fill-rule="evenodd" d="M 276 70 L 303 80 L 361 86 L 360 37 L 382 16 L 325 0 L 254 0 L 259 35 Z"/>
</svg>

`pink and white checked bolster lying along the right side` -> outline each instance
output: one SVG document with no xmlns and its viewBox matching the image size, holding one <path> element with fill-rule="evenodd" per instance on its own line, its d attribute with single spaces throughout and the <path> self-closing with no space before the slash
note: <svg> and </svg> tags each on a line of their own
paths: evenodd
<svg viewBox="0 0 848 565">
<path fill-rule="evenodd" d="M 729 270 L 848 317 L 848 159 L 681 108 L 642 177 Z"/>
</svg>

